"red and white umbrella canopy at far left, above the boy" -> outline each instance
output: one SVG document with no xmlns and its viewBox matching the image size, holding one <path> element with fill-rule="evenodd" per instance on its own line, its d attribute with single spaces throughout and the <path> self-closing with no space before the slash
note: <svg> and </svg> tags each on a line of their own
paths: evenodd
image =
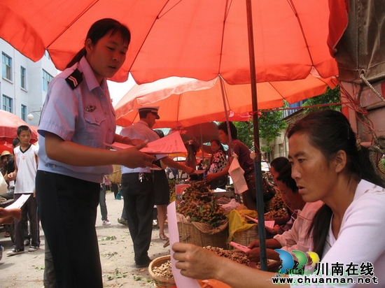
<svg viewBox="0 0 385 288">
<path fill-rule="evenodd" d="M 15 137 L 18 136 L 17 130 L 21 125 L 26 125 L 31 129 L 31 143 L 38 139 L 36 127 L 29 126 L 24 120 L 15 114 L 0 110 L 0 144 L 12 144 Z"/>
</svg>

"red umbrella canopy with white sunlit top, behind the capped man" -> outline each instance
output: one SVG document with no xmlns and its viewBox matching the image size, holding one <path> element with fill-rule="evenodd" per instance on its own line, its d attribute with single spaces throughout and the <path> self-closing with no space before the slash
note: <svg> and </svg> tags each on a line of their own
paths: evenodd
<svg viewBox="0 0 385 288">
<path fill-rule="evenodd" d="M 310 74 L 303 80 L 257 83 L 258 107 L 277 108 L 283 106 L 283 99 L 295 103 L 320 95 L 336 82 Z M 126 127 L 139 121 L 137 108 L 148 105 L 160 106 L 155 128 L 225 121 L 226 114 L 230 121 L 247 121 L 253 111 L 249 84 L 228 85 L 220 77 L 209 81 L 171 77 L 134 85 L 115 106 L 117 124 Z"/>
</svg>

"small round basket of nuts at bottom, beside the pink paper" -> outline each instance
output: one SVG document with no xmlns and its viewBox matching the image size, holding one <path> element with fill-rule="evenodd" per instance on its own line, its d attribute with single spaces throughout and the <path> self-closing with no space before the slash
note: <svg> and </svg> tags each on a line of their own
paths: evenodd
<svg viewBox="0 0 385 288">
<path fill-rule="evenodd" d="M 157 287 L 176 287 L 174 276 L 172 275 L 170 255 L 153 259 L 148 266 L 148 273 L 150 273 Z"/>
</svg>

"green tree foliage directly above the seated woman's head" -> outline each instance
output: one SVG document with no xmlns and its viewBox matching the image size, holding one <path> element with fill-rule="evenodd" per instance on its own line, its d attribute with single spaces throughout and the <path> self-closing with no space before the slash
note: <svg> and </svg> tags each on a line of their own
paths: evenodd
<svg viewBox="0 0 385 288">
<path fill-rule="evenodd" d="M 312 98 L 307 99 L 302 106 L 315 106 L 312 108 L 304 108 L 303 113 L 304 114 L 309 114 L 311 112 L 314 112 L 316 110 L 325 110 L 325 109 L 332 109 L 332 110 L 341 110 L 341 105 L 332 105 L 332 106 L 324 106 L 324 107 L 319 107 L 318 105 L 323 105 L 323 104 L 332 104 L 332 103 L 339 103 L 341 102 L 340 99 L 341 92 L 339 92 L 339 86 L 335 87 L 334 89 L 328 89 L 326 90 L 325 93 L 314 96 Z"/>
</svg>

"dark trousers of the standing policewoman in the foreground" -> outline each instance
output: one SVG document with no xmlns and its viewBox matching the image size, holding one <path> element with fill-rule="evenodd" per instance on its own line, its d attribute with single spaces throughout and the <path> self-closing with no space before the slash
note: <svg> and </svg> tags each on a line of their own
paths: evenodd
<svg viewBox="0 0 385 288">
<path fill-rule="evenodd" d="M 56 286 L 102 288 L 95 222 L 100 184 L 37 171 L 36 196 Z"/>
</svg>

